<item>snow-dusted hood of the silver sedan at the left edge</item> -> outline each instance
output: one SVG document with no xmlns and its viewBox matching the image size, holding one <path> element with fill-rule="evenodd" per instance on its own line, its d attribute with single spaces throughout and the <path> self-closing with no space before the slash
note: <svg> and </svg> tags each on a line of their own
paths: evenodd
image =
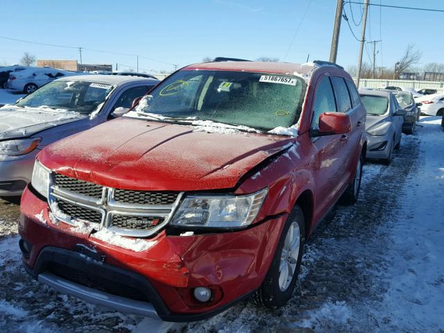
<svg viewBox="0 0 444 333">
<path fill-rule="evenodd" d="M 0 140 L 30 137 L 48 128 L 85 119 L 87 116 L 65 110 L 49 108 L 19 108 L 10 106 L 0 109 Z"/>
</svg>

